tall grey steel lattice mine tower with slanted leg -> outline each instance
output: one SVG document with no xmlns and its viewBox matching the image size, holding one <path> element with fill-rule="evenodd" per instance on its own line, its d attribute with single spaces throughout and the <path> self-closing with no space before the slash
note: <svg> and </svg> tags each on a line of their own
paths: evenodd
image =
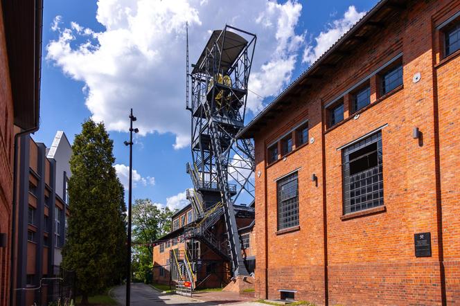
<svg viewBox="0 0 460 306">
<path fill-rule="evenodd" d="M 244 127 L 255 45 L 256 35 L 244 30 L 228 25 L 214 30 L 188 74 L 193 164 L 188 164 L 187 172 L 195 187 L 188 196 L 198 217 L 214 220 L 224 215 L 228 253 L 222 253 L 228 254 L 233 276 L 248 275 L 233 204 L 242 197 L 254 201 L 254 145 L 236 135 Z M 209 224 L 202 222 L 200 237 L 211 241 Z"/>
</svg>

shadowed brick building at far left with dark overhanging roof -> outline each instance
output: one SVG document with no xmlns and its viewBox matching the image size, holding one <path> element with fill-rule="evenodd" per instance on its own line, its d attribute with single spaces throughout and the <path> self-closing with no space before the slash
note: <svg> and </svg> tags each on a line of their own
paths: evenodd
<svg viewBox="0 0 460 306">
<path fill-rule="evenodd" d="M 15 136 L 39 124 L 41 37 L 42 0 L 0 2 L 0 306 L 11 294 Z"/>
</svg>

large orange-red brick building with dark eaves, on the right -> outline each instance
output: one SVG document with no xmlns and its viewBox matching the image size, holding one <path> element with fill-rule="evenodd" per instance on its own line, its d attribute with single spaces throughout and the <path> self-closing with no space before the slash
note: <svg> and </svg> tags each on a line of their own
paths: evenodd
<svg viewBox="0 0 460 306">
<path fill-rule="evenodd" d="M 240 133 L 256 297 L 460 304 L 460 1 L 382 0 Z"/>
</svg>

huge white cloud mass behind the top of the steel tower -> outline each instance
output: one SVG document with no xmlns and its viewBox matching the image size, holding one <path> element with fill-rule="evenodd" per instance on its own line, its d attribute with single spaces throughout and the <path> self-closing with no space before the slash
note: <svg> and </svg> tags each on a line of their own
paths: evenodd
<svg viewBox="0 0 460 306">
<path fill-rule="evenodd" d="M 241 8 L 245 9 L 242 10 Z M 258 35 L 249 78 L 248 107 L 278 94 L 292 78 L 304 34 L 295 33 L 301 4 L 268 0 L 99 0 L 100 33 L 71 23 L 51 27 L 59 37 L 46 46 L 46 59 L 74 80 L 84 82 L 86 105 L 109 130 L 127 130 L 132 107 L 141 135 L 171 133 L 175 148 L 190 143 L 190 113 L 185 107 L 185 24 L 190 59 L 195 62 L 209 31 L 231 24 Z"/>
</svg>

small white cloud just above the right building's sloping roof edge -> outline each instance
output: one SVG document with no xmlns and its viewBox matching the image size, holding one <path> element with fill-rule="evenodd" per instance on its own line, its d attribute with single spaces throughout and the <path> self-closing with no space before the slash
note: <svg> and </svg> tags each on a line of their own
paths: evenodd
<svg viewBox="0 0 460 306">
<path fill-rule="evenodd" d="M 302 62 L 308 64 L 315 62 L 365 14 L 366 12 L 357 12 L 355 6 L 349 6 L 343 18 L 328 24 L 327 30 L 315 37 L 316 46 L 312 46 L 311 44 L 306 46 Z"/>
</svg>

